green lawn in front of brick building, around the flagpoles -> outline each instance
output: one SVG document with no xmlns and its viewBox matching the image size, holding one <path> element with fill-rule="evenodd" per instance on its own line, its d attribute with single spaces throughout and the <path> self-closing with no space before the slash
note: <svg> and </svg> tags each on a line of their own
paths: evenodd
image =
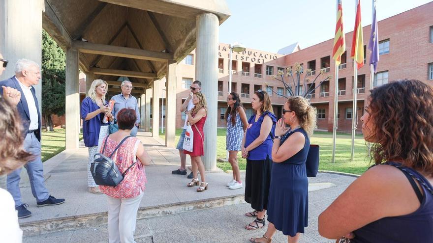
<svg viewBox="0 0 433 243">
<path fill-rule="evenodd" d="M 182 129 L 176 129 L 176 144 L 179 141 L 181 133 Z M 226 157 L 225 135 L 225 129 L 217 129 L 216 156 L 218 158 Z M 164 134 L 160 134 L 159 136 L 162 139 L 165 139 Z M 320 146 L 320 170 L 333 170 L 353 174 L 362 174 L 369 165 L 369 159 L 367 158 L 367 146 L 364 139 L 362 138 L 362 135 L 356 135 L 355 137 L 355 156 L 353 161 L 350 161 L 350 134 L 337 134 L 335 163 L 331 162 L 332 133 L 315 132 L 311 137 L 311 144 L 318 144 Z M 245 170 L 246 160 L 241 157 L 241 153 L 238 154 L 238 162 L 241 170 Z M 218 162 L 217 166 L 222 170 L 231 170 L 230 163 L 228 162 Z"/>
</svg>

